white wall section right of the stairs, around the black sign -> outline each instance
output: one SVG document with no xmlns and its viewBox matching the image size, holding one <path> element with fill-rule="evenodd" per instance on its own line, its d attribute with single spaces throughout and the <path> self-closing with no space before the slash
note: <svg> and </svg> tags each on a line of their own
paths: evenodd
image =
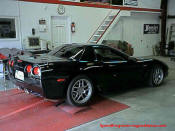
<svg viewBox="0 0 175 131">
<path fill-rule="evenodd" d="M 153 46 L 160 42 L 160 30 L 159 34 L 143 34 L 143 26 L 144 24 L 160 24 L 159 15 L 131 13 L 131 17 L 121 17 L 105 39 L 129 42 L 134 48 L 134 56 L 151 56 Z"/>
</svg>

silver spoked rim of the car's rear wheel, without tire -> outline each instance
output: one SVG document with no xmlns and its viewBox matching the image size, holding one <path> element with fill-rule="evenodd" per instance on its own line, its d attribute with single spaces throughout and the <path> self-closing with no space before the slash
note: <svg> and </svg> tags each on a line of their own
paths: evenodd
<svg viewBox="0 0 175 131">
<path fill-rule="evenodd" d="M 75 82 L 71 91 L 72 99 L 82 104 L 87 102 L 92 95 L 92 84 L 87 79 L 80 79 Z"/>
</svg>

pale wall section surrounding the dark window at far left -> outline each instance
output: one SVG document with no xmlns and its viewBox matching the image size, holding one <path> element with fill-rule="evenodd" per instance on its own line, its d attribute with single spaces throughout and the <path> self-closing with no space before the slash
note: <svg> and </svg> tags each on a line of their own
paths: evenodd
<svg viewBox="0 0 175 131">
<path fill-rule="evenodd" d="M 20 35 L 20 20 L 18 2 L 14 0 L 1 0 L 0 1 L 0 17 L 15 18 L 17 26 L 17 39 L 15 40 L 2 40 L 0 39 L 0 48 L 21 48 L 21 35 Z"/>
</svg>

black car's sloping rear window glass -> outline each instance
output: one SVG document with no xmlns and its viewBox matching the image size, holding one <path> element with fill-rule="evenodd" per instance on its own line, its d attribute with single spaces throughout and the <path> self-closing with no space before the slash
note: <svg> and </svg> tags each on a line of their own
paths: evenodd
<svg viewBox="0 0 175 131">
<path fill-rule="evenodd" d="M 79 59 L 83 52 L 82 46 L 62 45 L 49 52 L 49 55 L 62 58 Z"/>
</svg>

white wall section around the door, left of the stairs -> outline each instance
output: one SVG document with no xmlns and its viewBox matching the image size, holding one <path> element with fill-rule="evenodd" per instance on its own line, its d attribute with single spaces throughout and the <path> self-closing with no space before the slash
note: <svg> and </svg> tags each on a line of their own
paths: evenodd
<svg viewBox="0 0 175 131">
<path fill-rule="evenodd" d="M 72 33 L 72 43 L 86 43 L 93 32 L 106 17 L 110 9 L 64 6 L 65 14 L 61 16 L 70 17 L 75 22 L 76 32 Z M 52 41 L 51 37 L 51 16 L 60 16 L 57 13 L 58 5 L 43 4 L 32 2 L 20 2 L 21 10 L 21 27 L 22 40 L 25 43 L 26 38 L 32 35 L 32 28 L 36 29 L 36 36 L 41 39 Z M 47 23 L 47 31 L 38 31 L 39 19 L 45 19 Z"/>
</svg>

